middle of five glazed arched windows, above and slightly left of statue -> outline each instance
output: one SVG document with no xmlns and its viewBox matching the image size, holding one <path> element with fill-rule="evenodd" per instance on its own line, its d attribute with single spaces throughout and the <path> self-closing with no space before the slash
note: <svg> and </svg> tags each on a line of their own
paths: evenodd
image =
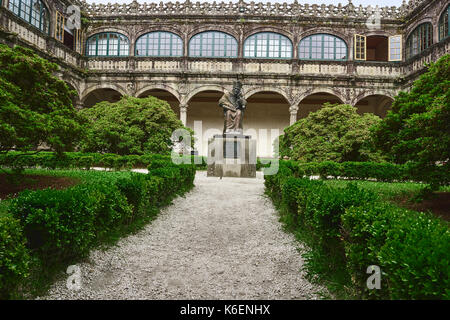
<svg viewBox="0 0 450 320">
<path fill-rule="evenodd" d="M 236 58 L 237 40 L 219 31 L 196 34 L 189 41 L 190 57 Z"/>
</svg>

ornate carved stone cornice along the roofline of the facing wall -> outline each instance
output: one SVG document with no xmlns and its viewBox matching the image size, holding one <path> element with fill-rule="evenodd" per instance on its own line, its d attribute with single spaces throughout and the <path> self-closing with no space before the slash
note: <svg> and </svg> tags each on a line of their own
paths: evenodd
<svg viewBox="0 0 450 320">
<path fill-rule="evenodd" d="M 243 16 L 243 17 L 315 17 L 369 19 L 376 12 L 383 20 L 401 20 L 412 14 L 429 0 L 404 0 L 400 7 L 376 8 L 355 6 L 351 0 L 343 5 L 317 5 L 293 3 L 247 2 L 160 2 L 129 4 L 88 4 L 81 1 L 83 11 L 92 18 L 108 16 Z M 376 11 L 378 10 L 378 11 Z"/>
</svg>

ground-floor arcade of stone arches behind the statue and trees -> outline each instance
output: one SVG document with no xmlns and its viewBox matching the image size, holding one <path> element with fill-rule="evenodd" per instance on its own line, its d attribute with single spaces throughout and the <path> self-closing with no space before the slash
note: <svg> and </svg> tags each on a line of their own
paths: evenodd
<svg viewBox="0 0 450 320">
<path fill-rule="evenodd" d="M 91 107 L 100 101 L 118 101 L 125 93 L 118 88 L 97 88 L 90 90 L 82 99 L 84 107 Z M 223 128 L 223 111 L 218 106 L 224 93 L 220 86 L 205 86 L 193 90 L 186 98 L 181 98 L 175 90 L 147 88 L 136 94 L 143 98 L 154 96 L 167 101 L 179 119 L 196 133 L 196 149 L 200 155 L 207 154 L 208 138 L 220 134 Z M 247 108 L 244 117 L 244 133 L 257 139 L 257 155 L 273 156 L 273 141 L 283 134 L 283 130 L 310 112 L 319 110 L 324 103 L 348 103 L 357 108 L 358 113 L 371 112 L 384 117 L 393 97 L 385 92 L 372 92 L 349 102 L 340 94 L 327 89 L 310 90 L 292 101 L 277 88 L 245 90 Z"/>
</svg>

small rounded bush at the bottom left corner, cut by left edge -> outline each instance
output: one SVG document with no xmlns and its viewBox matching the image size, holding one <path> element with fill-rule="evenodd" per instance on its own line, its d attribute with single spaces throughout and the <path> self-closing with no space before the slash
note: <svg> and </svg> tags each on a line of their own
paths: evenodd
<svg viewBox="0 0 450 320">
<path fill-rule="evenodd" d="M 17 283 L 29 274 L 29 251 L 22 227 L 11 216 L 0 216 L 0 299 L 14 298 Z"/>
</svg>

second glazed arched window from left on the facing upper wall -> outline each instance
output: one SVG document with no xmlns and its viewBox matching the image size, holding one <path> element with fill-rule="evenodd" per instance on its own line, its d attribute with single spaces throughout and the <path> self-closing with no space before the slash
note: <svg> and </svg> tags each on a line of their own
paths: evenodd
<svg viewBox="0 0 450 320">
<path fill-rule="evenodd" d="M 136 40 L 136 56 L 180 57 L 182 55 L 183 40 L 172 32 L 150 32 Z"/>
</svg>

